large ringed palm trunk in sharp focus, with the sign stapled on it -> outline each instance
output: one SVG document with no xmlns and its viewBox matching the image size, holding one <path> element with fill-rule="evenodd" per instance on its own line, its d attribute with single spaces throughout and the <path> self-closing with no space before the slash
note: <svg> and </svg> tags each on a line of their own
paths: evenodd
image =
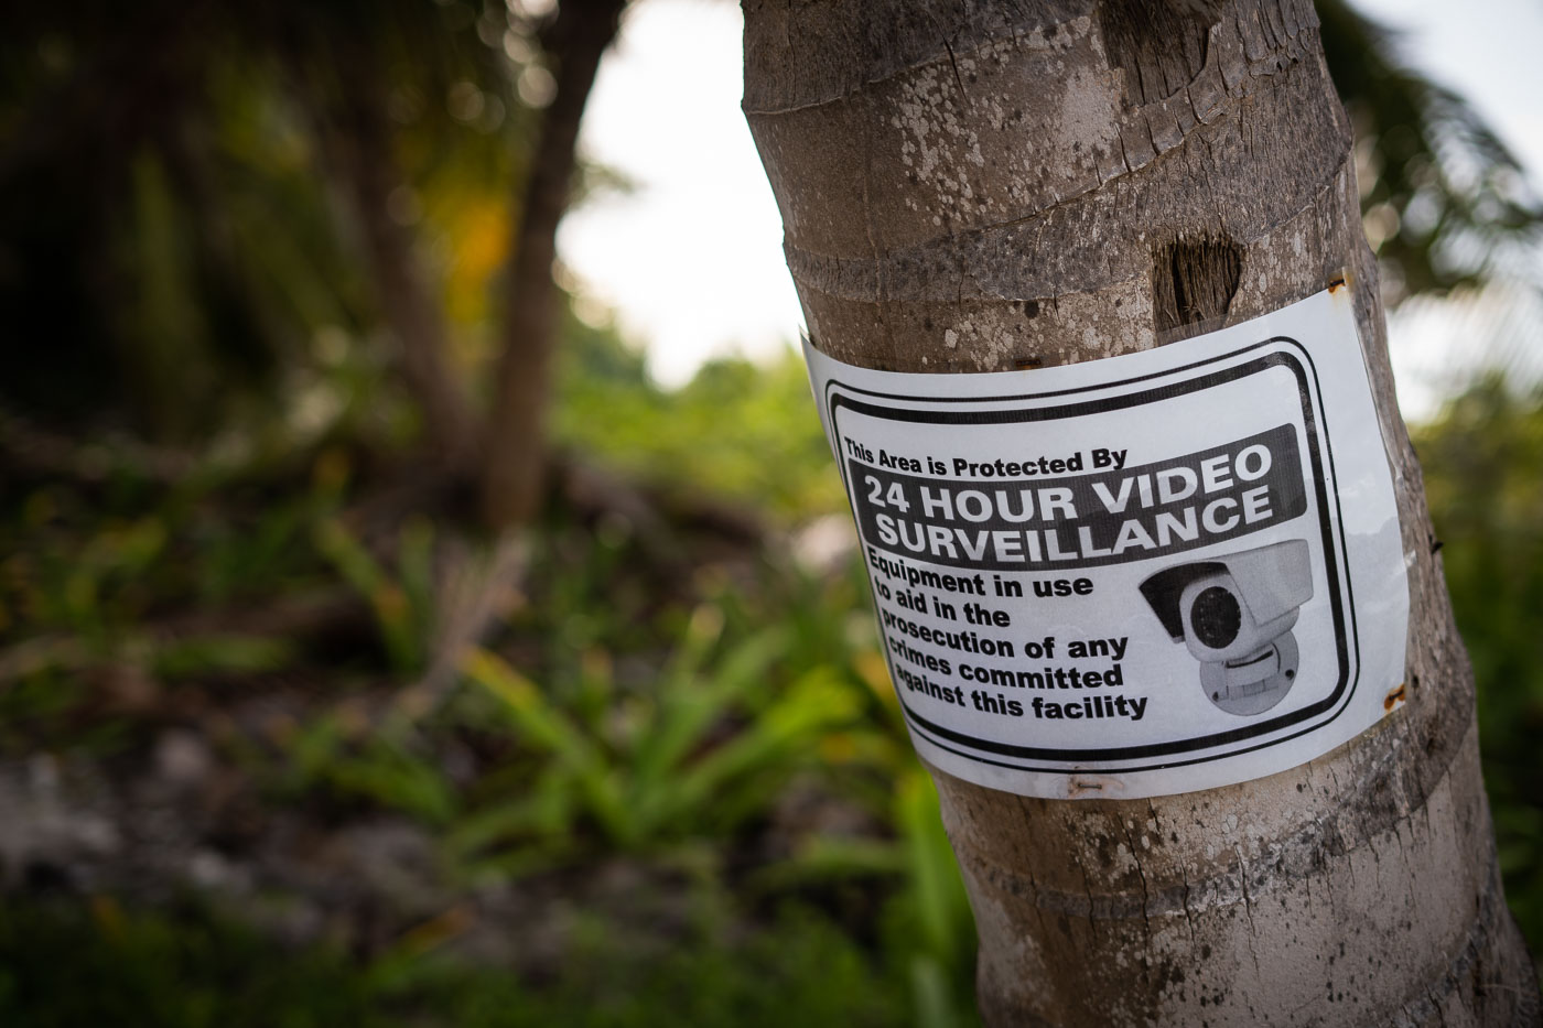
<svg viewBox="0 0 1543 1028">
<path fill-rule="evenodd" d="M 745 111 L 822 352 L 1068 364 L 1345 276 L 1396 443 L 1401 713 L 1295 770 L 1153 800 L 1025 798 L 934 769 L 986 1022 L 1538 1023 L 1308 2 L 745 0 Z"/>
</svg>

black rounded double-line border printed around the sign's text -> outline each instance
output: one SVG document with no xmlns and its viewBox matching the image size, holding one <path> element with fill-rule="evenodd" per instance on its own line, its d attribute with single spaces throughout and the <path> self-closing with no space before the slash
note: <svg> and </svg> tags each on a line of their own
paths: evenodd
<svg viewBox="0 0 1543 1028">
<path fill-rule="evenodd" d="M 844 394 L 861 394 L 864 397 L 872 397 L 873 400 L 903 400 L 909 403 L 1003 403 L 1003 401 L 1023 401 L 1023 400 L 1046 400 L 1058 397 L 1075 397 L 1077 394 L 1099 392 L 1105 389 L 1131 386 L 1142 381 L 1150 381 L 1154 378 L 1168 378 L 1176 374 L 1193 370 L 1196 367 L 1204 367 L 1207 364 L 1217 364 L 1222 361 L 1233 360 L 1250 350 L 1268 347 L 1268 346 L 1291 346 L 1301 352 L 1301 360 L 1296 355 L 1276 350 L 1273 353 L 1262 353 L 1248 361 L 1233 364 L 1230 367 L 1216 369 L 1213 372 L 1196 375 L 1183 381 L 1154 384 L 1145 389 L 1137 389 L 1134 392 L 1122 394 L 1117 397 L 1102 397 L 1097 400 L 1069 400 L 1066 403 L 1058 403 L 1054 406 L 1032 407 L 1026 411 L 934 411 L 934 409 L 912 409 L 912 407 L 892 407 L 869 400 L 858 400 L 855 395 Z M 1305 366 L 1304 363 L 1305 361 Z M 1330 588 L 1329 600 L 1330 610 L 1335 622 L 1335 642 L 1336 656 L 1339 661 L 1339 679 L 1335 684 L 1333 692 L 1299 710 L 1293 710 L 1258 724 L 1244 725 L 1239 729 L 1231 729 L 1228 732 L 1216 732 L 1205 736 L 1194 736 L 1190 739 L 1176 739 L 1171 742 L 1151 742 L 1145 746 L 1125 746 L 1125 747 L 1108 747 L 1108 749 L 1057 749 L 1057 747 L 1037 747 L 1037 746 L 1015 746 L 1009 742 L 998 742 L 995 739 L 981 739 L 955 729 L 947 729 L 944 725 L 935 724 L 927 718 L 917 713 L 910 704 L 906 701 L 906 692 L 895 687 L 895 695 L 900 699 L 900 707 L 906 715 L 906 721 L 910 727 L 921 735 L 927 742 L 943 749 L 949 753 L 972 759 L 981 764 L 994 764 L 997 767 L 1009 767 L 1014 770 L 1025 772 L 1045 772 L 1045 773 L 1075 773 L 1083 770 L 1089 763 L 1109 763 L 1109 761 L 1131 761 L 1143 758 L 1177 758 L 1177 759 L 1160 759 L 1151 764 L 1142 764 L 1137 767 L 1117 767 L 1106 770 L 1117 772 L 1139 772 L 1139 770 L 1157 770 L 1163 767 L 1182 767 L 1188 764 L 1204 764 L 1210 761 L 1225 759 L 1230 756 L 1237 756 L 1241 753 L 1250 753 L 1253 750 L 1265 749 L 1270 746 L 1279 746 L 1288 739 L 1295 739 L 1301 735 L 1313 732 L 1316 729 L 1330 724 L 1338 718 L 1349 705 L 1350 696 L 1355 693 L 1355 687 L 1361 679 L 1361 659 L 1359 659 L 1359 631 L 1355 624 L 1355 591 L 1350 583 L 1349 570 L 1349 554 L 1344 551 L 1344 528 L 1342 514 L 1339 508 L 1339 489 L 1338 478 L 1335 477 L 1333 463 L 1333 443 L 1329 438 L 1327 418 L 1322 414 L 1322 391 L 1318 381 L 1318 367 L 1313 364 L 1312 355 L 1307 349 L 1290 336 L 1273 336 L 1251 346 L 1245 346 L 1228 353 L 1222 353 L 1213 358 L 1194 361 L 1191 364 L 1183 364 L 1180 367 L 1173 367 L 1160 372 L 1153 372 L 1148 375 L 1137 375 L 1134 378 L 1126 378 L 1113 383 L 1102 383 L 1096 386 L 1082 386 L 1075 389 L 1060 389 L 1054 392 L 1040 394 L 1017 394 L 1004 397 L 909 397 L 901 394 L 883 394 L 872 389 L 861 389 L 856 386 L 847 386 L 839 380 L 830 380 L 826 383 L 826 404 L 830 417 L 832 434 L 836 438 L 836 466 L 841 472 L 841 482 L 847 489 L 847 500 L 852 502 L 852 483 L 847 478 L 844 448 L 841 443 L 844 437 L 841 435 L 839 421 L 836 414 L 839 409 L 846 407 L 855 414 L 866 414 L 875 418 L 886 418 L 892 421 L 915 421 L 926 424 L 1014 424 L 1025 421 L 1051 421 L 1066 417 L 1080 417 L 1088 414 L 1102 414 L 1106 411 L 1119 411 L 1133 406 L 1142 406 L 1145 403 L 1154 403 L 1159 400 L 1170 400 L 1174 397 L 1188 395 L 1199 392 L 1202 389 L 1210 389 L 1230 381 L 1237 381 L 1248 375 L 1254 375 L 1270 367 L 1285 367 L 1296 378 L 1298 394 L 1302 403 L 1302 428 L 1307 435 L 1307 452 L 1308 463 L 1312 466 L 1312 482 L 1308 483 L 1308 492 L 1318 502 L 1318 520 L 1322 531 L 1322 551 L 1325 562 L 1325 577 L 1336 588 Z M 1312 381 L 1308 381 L 1308 372 L 1312 372 Z M 832 389 L 839 387 L 842 394 L 832 395 Z M 1318 397 L 1318 403 L 1313 403 L 1313 397 Z M 1322 429 L 1322 452 L 1319 448 L 1319 429 Z M 1327 474 L 1325 474 L 1327 471 Z M 1330 485 L 1333 491 L 1330 492 Z M 855 509 L 855 508 L 853 508 Z M 853 512 L 853 520 L 856 516 Z M 1333 528 L 1339 526 L 1341 545 L 1336 550 L 1333 540 Z M 858 539 L 863 540 L 864 546 L 873 546 L 876 550 L 884 550 L 895 553 L 889 546 L 881 546 L 878 543 L 869 542 L 863 536 L 861 525 L 858 525 Z M 907 556 L 907 554 L 900 554 Z M 867 559 L 864 557 L 864 563 Z M 869 576 L 872 577 L 872 568 L 869 568 Z M 1345 602 L 1341 597 L 1349 599 L 1349 625 L 1350 631 L 1345 633 Z M 876 600 L 875 600 L 876 607 Z M 884 631 L 883 617 L 880 622 L 880 634 L 884 637 L 884 661 L 889 664 L 890 681 L 896 681 L 893 658 L 889 648 L 889 634 Z M 1350 653 L 1349 647 L 1355 647 L 1355 678 L 1350 678 Z M 1327 713 L 1329 716 L 1315 721 L 1319 715 Z M 1310 724 L 1304 724 L 1310 722 Z M 1245 742 L 1248 739 L 1256 739 L 1261 735 L 1270 735 L 1273 732 L 1281 732 L 1285 729 L 1296 729 L 1290 735 L 1282 735 L 1275 739 L 1264 742 L 1256 742 L 1254 746 L 1244 746 L 1236 749 L 1227 749 L 1221 753 L 1210 753 L 1204 756 L 1183 756 L 1191 755 L 1196 750 L 1213 749 L 1219 746 L 1230 746 L 1233 742 Z M 952 742 L 952 746 L 950 746 Z M 958 747 L 969 749 L 958 749 Z M 989 756 L 988 756 L 989 755 Z M 1017 758 L 1017 759 L 1012 759 Z M 1025 761 L 1058 761 L 1058 766 L 1043 766 Z M 1068 767 L 1068 764 L 1072 764 Z"/>
</svg>

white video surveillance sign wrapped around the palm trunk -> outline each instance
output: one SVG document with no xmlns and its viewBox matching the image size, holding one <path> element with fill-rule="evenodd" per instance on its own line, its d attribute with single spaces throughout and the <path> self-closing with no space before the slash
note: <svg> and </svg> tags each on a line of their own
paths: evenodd
<svg viewBox="0 0 1543 1028">
<path fill-rule="evenodd" d="M 1349 289 L 1154 350 L 913 375 L 805 346 L 917 750 L 1031 796 L 1296 767 L 1403 684 Z"/>
</svg>

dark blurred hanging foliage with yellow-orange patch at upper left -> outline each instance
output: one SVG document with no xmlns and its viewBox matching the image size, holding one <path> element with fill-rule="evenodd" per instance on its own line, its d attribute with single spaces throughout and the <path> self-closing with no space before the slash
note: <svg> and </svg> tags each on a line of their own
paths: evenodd
<svg viewBox="0 0 1543 1028">
<path fill-rule="evenodd" d="M 539 19 L 483 0 L 184 14 L 34 5 L 0 39 L 0 252 L 28 256 L 0 275 L 5 406 L 179 445 L 273 417 L 329 333 L 383 349 L 358 221 L 387 194 L 409 245 L 454 253 L 429 292 L 475 346 L 534 136 L 517 82 Z"/>
</svg>

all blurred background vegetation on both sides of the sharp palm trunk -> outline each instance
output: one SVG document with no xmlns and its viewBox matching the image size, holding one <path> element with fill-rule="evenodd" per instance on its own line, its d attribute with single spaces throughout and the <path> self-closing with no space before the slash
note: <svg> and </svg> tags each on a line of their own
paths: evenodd
<svg viewBox="0 0 1543 1028">
<path fill-rule="evenodd" d="M 662 389 L 552 281 L 619 0 L 241 6 L 0 37 L 0 1022 L 972 1023 L 802 366 Z M 1390 299 L 1526 278 L 1319 9 Z M 1413 435 L 1540 946 L 1543 392 Z"/>
</svg>

